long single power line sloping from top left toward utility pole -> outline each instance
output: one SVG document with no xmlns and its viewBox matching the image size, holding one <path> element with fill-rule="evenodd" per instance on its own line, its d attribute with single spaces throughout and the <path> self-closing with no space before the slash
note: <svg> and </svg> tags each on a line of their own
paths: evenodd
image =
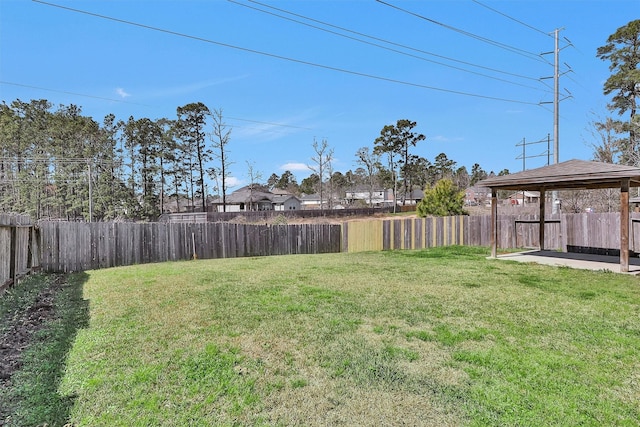
<svg viewBox="0 0 640 427">
<path fill-rule="evenodd" d="M 363 73 L 363 72 L 359 72 L 359 71 L 347 70 L 347 69 L 344 69 L 344 68 L 333 67 L 333 66 L 330 66 L 330 65 L 323 65 L 323 64 L 310 62 L 310 61 L 304 61 L 304 60 L 301 60 L 301 59 L 289 58 L 289 57 L 286 57 L 286 56 L 276 55 L 276 54 L 269 53 L 269 52 L 262 52 L 262 51 L 259 51 L 259 50 L 249 49 L 249 48 L 246 48 L 246 47 L 235 46 L 235 45 L 231 45 L 231 44 L 228 44 L 228 43 L 222 43 L 222 42 L 218 42 L 218 41 L 215 41 L 215 40 L 206 39 L 204 37 L 198 37 L 198 36 L 193 36 L 193 35 L 189 35 L 189 34 L 185 34 L 185 33 L 180 33 L 180 32 L 177 32 L 177 31 L 172 31 L 172 30 L 167 30 L 167 29 L 163 29 L 163 28 L 153 27 L 151 25 L 140 24 L 140 23 L 133 22 L 133 21 L 128 21 L 128 20 L 125 20 L 125 19 L 114 18 L 114 17 L 111 17 L 111 16 L 101 15 L 101 14 L 88 12 L 88 11 L 81 10 L 81 9 L 75 9 L 75 8 L 71 8 L 71 7 L 67 7 L 67 6 L 62 6 L 62 5 L 58 5 L 58 4 L 54 4 L 54 3 L 49 3 L 49 2 L 42 1 L 42 0 L 32 0 L 32 1 L 34 1 L 35 3 L 40 3 L 40 4 L 47 5 L 47 6 L 57 7 L 57 8 L 68 10 L 68 11 L 75 12 L 75 13 L 81 13 L 81 14 L 84 14 L 84 15 L 89 15 L 89 16 L 93 16 L 93 17 L 96 17 L 96 18 L 100 18 L 100 19 L 106 19 L 106 20 L 110 20 L 110 21 L 114 21 L 114 22 L 119 22 L 121 24 L 132 25 L 132 26 L 144 28 L 144 29 L 147 29 L 147 30 L 158 31 L 158 32 L 165 33 L 165 34 L 170 34 L 170 35 L 173 35 L 173 36 L 184 37 L 184 38 L 191 39 L 191 40 L 197 40 L 197 41 L 201 41 L 201 42 L 204 42 L 204 43 L 210 43 L 210 44 L 214 44 L 214 45 L 217 45 L 217 46 L 227 47 L 227 48 L 230 48 L 230 49 L 236 49 L 236 50 L 240 50 L 240 51 L 243 51 L 243 52 L 253 53 L 253 54 L 256 54 L 256 55 L 267 56 L 267 57 L 270 57 L 270 58 L 280 59 L 280 60 L 283 60 L 283 61 L 294 62 L 294 63 L 297 63 L 297 64 L 308 65 L 308 66 L 311 66 L 311 67 L 322 68 L 322 69 L 325 69 L 325 70 L 336 71 L 336 72 L 340 72 L 340 73 L 344 73 L 344 74 L 350 74 L 350 75 L 359 76 L 359 77 L 366 77 L 366 78 L 370 78 L 370 79 L 374 79 L 374 80 L 386 81 L 386 82 L 389 82 L 389 83 L 396 83 L 396 84 L 401 84 L 401 85 L 405 85 L 405 86 L 417 87 L 417 88 L 421 88 L 421 89 L 427 89 L 427 90 L 434 90 L 434 91 L 438 91 L 438 92 L 451 93 L 451 94 L 455 94 L 455 95 L 469 96 L 469 97 L 482 98 L 482 99 L 490 99 L 490 100 L 494 100 L 494 101 L 510 102 L 510 103 L 515 103 L 515 104 L 538 105 L 535 102 L 520 101 L 520 100 L 515 100 L 515 99 L 507 99 L 507 98 L 500 98 L 500 97 L 497 97 L 497 96 L 480 95 L 480 94 L 462 92 L 462 91 L 457 91 L 457 90 L 452 90 L 452 89 L 444 89 L 444 88 L 435 87 L 435 86 L 428 86 L 428 85 L 423 85 L 423 84 L 419 84 L 419 83 L 412 83 L 412 82 L 393 79 L 393 78 L 389 78 L 389 77 L 376 76 L 376 75 L 373 75 L 373 74 L 367 74 L 367 73 Z"/>
</svg>

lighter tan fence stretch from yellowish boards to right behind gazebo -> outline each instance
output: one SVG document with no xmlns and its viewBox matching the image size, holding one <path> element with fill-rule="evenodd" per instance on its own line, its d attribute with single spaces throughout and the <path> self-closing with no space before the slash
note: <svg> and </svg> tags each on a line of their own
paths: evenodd
<svg viewBox="0 0 640 427">
<path fill-rule="evenodd" d="M 498 247 L 537 248 L 537 215 L 499 215 Z M 546 218 L 545 248 L 619 249 L 617 213 L 561 214 Z M 632 213 L 629 248 L 640 252 L 640 213 Z M 349 221 L 343 224 L 343 250 L 423 249 L 435 246 L 491 244 L 491 216 Z"/>
</svg>

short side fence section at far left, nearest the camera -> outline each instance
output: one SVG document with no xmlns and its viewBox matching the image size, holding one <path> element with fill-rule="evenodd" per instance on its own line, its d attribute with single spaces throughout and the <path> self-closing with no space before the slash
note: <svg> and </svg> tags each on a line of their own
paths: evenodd
<svg viewBox="0 0 640 427">
<path fill-rule="evenodd" d="M 0 214 L 0 290 L 40 266 L 39 242 L 29 216 Z"/>
</svg>

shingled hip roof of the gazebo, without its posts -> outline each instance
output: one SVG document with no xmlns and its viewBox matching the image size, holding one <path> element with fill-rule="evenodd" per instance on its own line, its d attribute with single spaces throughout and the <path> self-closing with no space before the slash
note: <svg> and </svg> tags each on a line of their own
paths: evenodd
<svg viewBox="0 0 640 427">
<path fill-rule="evenodd" d="M 640 168 L 586 160 L 568 160 L 511 175 L 495 176 L 476 185 L 500 190 L 612 188 L 629 179 L 640 187 Z"/>
</svg>

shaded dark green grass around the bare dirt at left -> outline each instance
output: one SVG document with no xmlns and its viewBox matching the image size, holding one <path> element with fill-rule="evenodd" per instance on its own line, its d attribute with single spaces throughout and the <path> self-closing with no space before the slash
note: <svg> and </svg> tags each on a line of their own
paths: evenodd
<svg viewBox="0 0 640 427">
<path fill-rule="evenodd" d="M 55 314 L 29 338 L 21 356 L 22 367 L 12 377 L 10 387 L 0 387 L 0 425 L 55 427 L 63 426 L 69 419 L 73 396 L 61 395 L 58 387 L 75 333 L 88 320 L 88 310 L 82 301 L 83 277 L 76 274 L 55 293 L 51 301 Z M 57 286 L 51 283 L 55 280 L 57 277 L 53 275 L 30 276 L 6 291 L 0 298 L 0 320 L 4 320 L 0 335 L 12 333 L 9 325 L 35 321 L 21 315 L 29 313 L 30 307 L 33 309 L 52 286 Z M 13 333 L 25 332 L 25 327 L 19 327 Z"/>
</svg>

